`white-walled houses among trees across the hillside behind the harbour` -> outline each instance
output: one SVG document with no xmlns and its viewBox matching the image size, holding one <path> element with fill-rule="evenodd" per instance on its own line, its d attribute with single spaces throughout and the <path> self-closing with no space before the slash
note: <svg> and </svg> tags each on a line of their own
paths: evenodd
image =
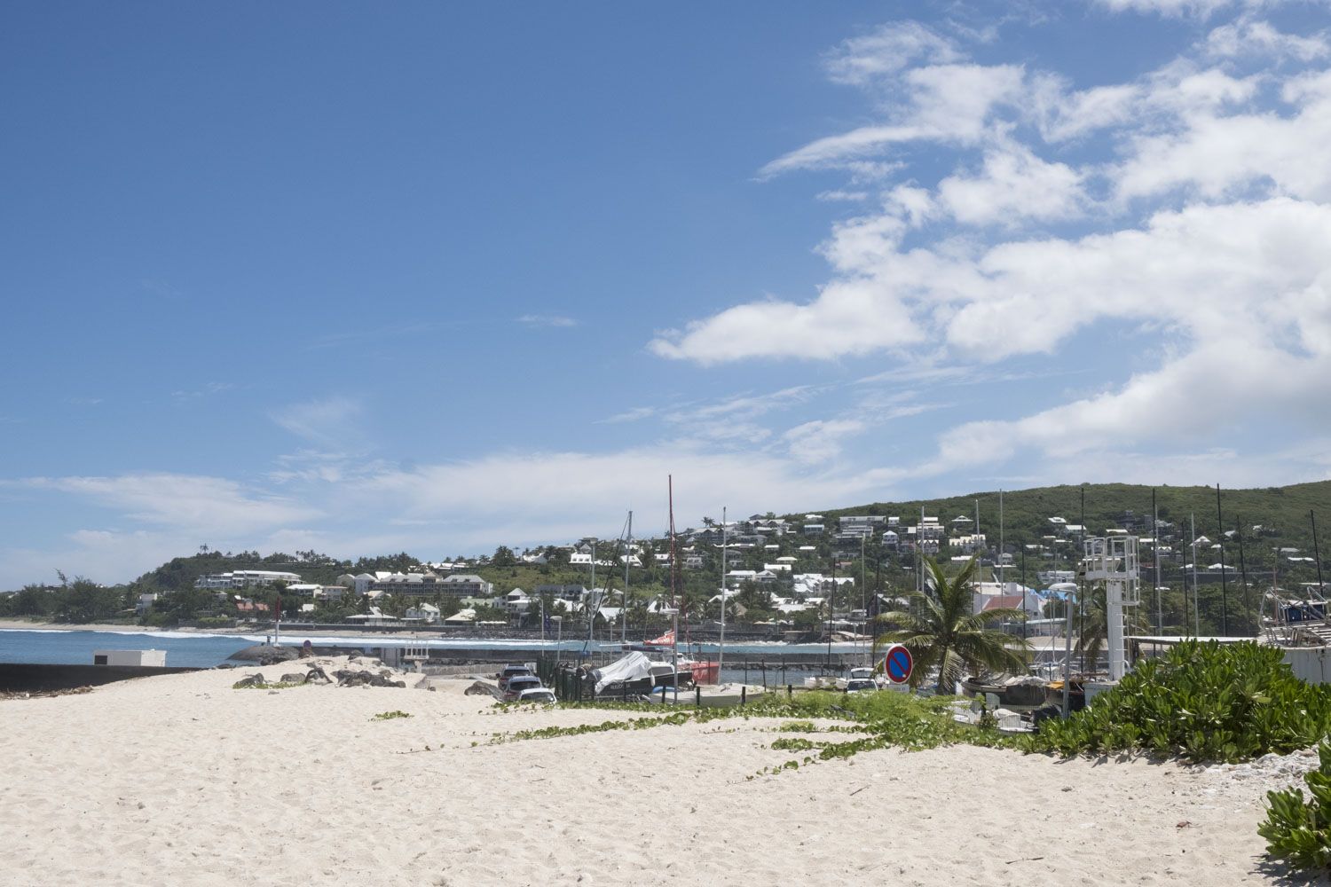
<svg viewBox="0 0 1331 887">
<path fill-rule="evenodd" d="M 280 618 L 291 628 L 627 637 L 677 617 L 700 634 L 724 620 L 731 632 L 755 637 L 845 640 L 872 633 L 876 616 L 910 606 L 925 559 L 952 570 L 974 559 L 973 612 L 1020 610 L 1025 620 L 1004 628 L 1037 636 L 1058 630 L 1062 604 L 1049 589 L 1077 580 L 1082 540 L 1095 535 L 1134 541 L 1143 588 L 1154 589 L 1138 617 L 1143 629 L 1254 634 L 1272 589 L 1282 600 L 1320 600 L 1314 552 L 1267 525 L 1213 539 L 1130 511 L 1093 528 L 1049 515 L 1040 537 L 1028 541 L 1002 524 L 981 527 L 981 516 L 977 500 L 970 515 L 704 517 L 673 539 L 626 532 L 437 561 L 399 555 L 353 564 L 313 551 L 260 557 L 202 547 L 172 561 L 181 568 L 173 578 L 158 570 L 120 589 L 134 620 L 158 626 Z M 232 568 L 209 569 L 214 564 Z M 23 594 L 35 600 L 36 589 L 12 592 L 0 605 L 23 614 Z"/>
</svg>

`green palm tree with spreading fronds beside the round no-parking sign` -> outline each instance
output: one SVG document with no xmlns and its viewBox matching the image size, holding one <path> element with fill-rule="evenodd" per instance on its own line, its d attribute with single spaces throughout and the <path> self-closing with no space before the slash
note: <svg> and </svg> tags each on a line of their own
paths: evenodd
<svg viewBox="0 0 1331 887">
<path fill-rule="evenodd" d="M 950 580 L 932 557 L 925 557 L 925 567 L 929 590 L 912 594 L 912 598 L 920 602 L 918 608 L 913 608 L 918 613 L 893 610 L 877 617 L 877 621 L 898 628 L 884 632 L 873 640 L 874 657 L 882 646 L 902 644 L 914 660 L 910 686 L 920 686 L 924 676 L 937 668 L 938 693 L 952 686 L 969 669 L 1025 672 L 1026 661 L 1018 650 L 1028 649 L 1026 641 L 986 625 L 993 621 L 1025 618 L 1026 614 L 1020 608 L 972 613 L 976 559 L 966 561 L 961 572 Z"/>
</svg>

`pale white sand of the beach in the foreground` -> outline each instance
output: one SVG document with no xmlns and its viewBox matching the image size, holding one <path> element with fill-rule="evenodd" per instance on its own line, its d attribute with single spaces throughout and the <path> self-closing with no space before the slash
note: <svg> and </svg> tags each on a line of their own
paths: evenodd
<svg viewBox="0 0 1331 887">
<path fill-rule="evenodd" d="M 747 781 L 771 719 L 484 743 L 638 717 L 438 692 L 233 690 L 295 664 L 0 701 L 0 884 L 1239 884 L 1260 779 L 894 750 Z M 373 721 L 379 711 L 411 718 Z M 426 751 L 429 746 L 429 751 Z"/>
</svg>

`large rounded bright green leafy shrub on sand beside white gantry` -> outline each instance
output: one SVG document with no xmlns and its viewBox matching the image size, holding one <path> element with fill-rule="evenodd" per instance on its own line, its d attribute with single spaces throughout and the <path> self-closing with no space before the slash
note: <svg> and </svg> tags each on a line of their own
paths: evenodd
<svg viewBox="0 0 1331 887">
<path fill-rule="evenodd" d="M 1248 761 L 1316 745 L 1331 729 L 1331 688 L 1294 677 L 1276 648 L 1183 641 L 1141 662 L 1036 747 L 1066 757 L 1113 751 Z"/>
</svg>

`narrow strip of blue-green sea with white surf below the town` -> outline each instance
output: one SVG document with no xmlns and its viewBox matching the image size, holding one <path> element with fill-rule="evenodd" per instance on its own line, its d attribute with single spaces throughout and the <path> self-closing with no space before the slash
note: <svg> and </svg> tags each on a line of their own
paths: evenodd
<svg viewBox="0 0 1331 887">
<path fill-rule="evenodd" d="M 265 634 L 201 634 L 196 632 L 80 632 L 80 630 L 53 630 L 28 632 L 23 629 L 0 629 L 0 662 L 35 662 L 52 665 L 92 665 L 93 650 L 166 650 L 166 665 L 212 668 L 230 658 L 232 654 L 268 640 Z M 342 646 L 346 649 L 369 649 L 382 646 L 426 646 L 431 650 L 447 649 L 486 649 L 510 650 L 512 653 L 535 653 L 539 650 L 578 652 L 583 649 L 583 640 L 566 640 L 559 644 L 530 640 L 498 640 L 498 638 L 419 638 L 397 636 L 365 634 L 354 638 L 334 637 L 323 634 L 286 634 L 282 633 L 280 642 L 284 645 L 299 646 L 310 641 L 314 646 Z M 616 650 L 618 644 L 592 642 L 594 650 Z M 689 654 L 715 656 L 715 644 L 695 644 L 688 649 Z M 827 653 L 827 644 L 727 644 L 727 657 L 760 658 L 764 654 L 777 656 L 781 653 Z M 833 644 L 833 653 L 862 653 L 864 645 Z M 680 646 L 680 654 L 685 654 Z M 743 678 L 743 670 L 725 669 L 723 680 L 737 681 Z M 768 673 L 768 680 L 773 681 L 773 673 Z M 749 672 L 749 682 L 761 682 L 760 673 Z M 796 681 L 797 682 L 797 681 Z"/>
</svg>

